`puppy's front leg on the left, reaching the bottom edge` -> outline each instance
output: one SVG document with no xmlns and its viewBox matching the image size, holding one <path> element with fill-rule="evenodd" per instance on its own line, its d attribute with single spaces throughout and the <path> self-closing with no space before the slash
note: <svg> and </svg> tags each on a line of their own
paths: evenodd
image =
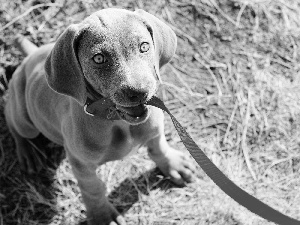
<svg viewBox="0 0 300 225">
<path fill-rule="evenodd" d="M 86 205 L 88 224 L 125 225 L 124 218 L 105 196 L 105 184 L 96 175 L 97 165 L 78 160 L 70 154 L 68 159 Z"/>
</svg>

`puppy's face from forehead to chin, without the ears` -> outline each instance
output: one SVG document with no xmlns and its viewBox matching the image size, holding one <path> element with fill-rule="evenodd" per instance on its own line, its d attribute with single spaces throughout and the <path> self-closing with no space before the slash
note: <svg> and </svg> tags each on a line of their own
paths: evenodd
<svg viewBox="0 0 300 225">
<path fill-rule="evenodd" d="M 145 21 L 134 14 L 93 15 L 78 45 L 78 60 L 94 90 L 111 99 L 122 119 L 144 122 L 144 105 L 156 92 L 154 42 Z M 90 22 L 92 21 L 92 22 Z"/>
</svg>

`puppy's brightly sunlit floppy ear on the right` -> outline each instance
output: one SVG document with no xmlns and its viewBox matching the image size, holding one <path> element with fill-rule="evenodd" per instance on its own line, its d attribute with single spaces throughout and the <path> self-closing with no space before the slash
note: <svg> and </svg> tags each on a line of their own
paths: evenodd
<svg viewBox="0 0 300 225">
<path fill-rule="evenodd" d="M 150 13 L 142 9 L 136 10 L 135 14 L 141 16 L 146 22 L 152 35 L 155 48 L 155 57 L 159 60 L 159 68 L 168 63 L 175 54 L 177 38 L 174 31 Z"/>
</svg>

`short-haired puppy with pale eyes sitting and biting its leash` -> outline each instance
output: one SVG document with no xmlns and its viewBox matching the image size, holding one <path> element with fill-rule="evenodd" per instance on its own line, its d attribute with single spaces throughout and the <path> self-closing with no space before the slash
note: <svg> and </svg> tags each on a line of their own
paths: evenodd
<svg viewBox="0 0 300 225">
<path fill-rule="evenodd" d="M 21 168 L 41 168 L 28 141 L 40 133 L 64 146 L 90 225 L 126 224 L 96 168 L 141 146 L 176 184 L 193 180 L 190 158 L 166 141 L 162 110 L 145 104 L 176 45 L 172 29 L 143 10 L 102 9 L 70 25 L 56 43 L 34 48 L 9 82 L 5 117 Z M 114 119 L 89 111 L 99 99 L 109 102 Z"/>
</svg>

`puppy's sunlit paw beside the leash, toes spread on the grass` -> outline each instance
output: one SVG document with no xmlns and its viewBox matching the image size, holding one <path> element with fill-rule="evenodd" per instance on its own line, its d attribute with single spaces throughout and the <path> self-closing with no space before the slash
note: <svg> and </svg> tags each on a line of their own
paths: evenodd
<svg viewBox="0 0 300 225">
<path fill-rule="evenodd" d="M 169 148 L 164 155 L 151 158 L 162 173 L 170 177 L 175 184 L 182 186 L 194 180 L 196 168 L 187 154 Z"/>
</svg>

